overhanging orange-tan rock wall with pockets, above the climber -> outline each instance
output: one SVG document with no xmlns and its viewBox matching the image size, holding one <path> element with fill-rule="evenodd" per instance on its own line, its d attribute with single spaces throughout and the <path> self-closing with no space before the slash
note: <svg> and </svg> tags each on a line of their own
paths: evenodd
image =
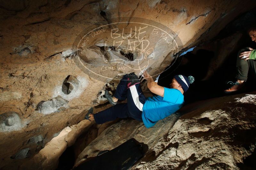
<svg viewBox="0 0 256 170">
<path fill-rule="evenodd" d="M 252 0 L 1 1 L 0 114 L 15 112 L 20 123 L 1 122 L 0 168 L 31 159 L 90 107 L 105 103 L 103 90 L 118 75 L 161 73 L 178 52 L 212 39 L 254 6 Z M 78 43 L 86 30 L 103 25 L 109 25 L 105 32 L 95 30 L 89 43 Z"/>
</svg>

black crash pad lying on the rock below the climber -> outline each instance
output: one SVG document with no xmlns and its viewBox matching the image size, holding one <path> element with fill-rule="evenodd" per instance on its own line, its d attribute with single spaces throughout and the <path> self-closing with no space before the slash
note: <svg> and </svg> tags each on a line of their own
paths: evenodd
<svg viewBox="0 0 256 170">
<path fill-rule="evenodd" d="M 142 145 L 134 138 L 127 140 L 123 144 L 117 146 L 110 151 L 99 153 L 94 158 L 89 158 L 74 170 L 125 170 L 133 166 L 133 164 L 143 157 Z"/>
</svg>

